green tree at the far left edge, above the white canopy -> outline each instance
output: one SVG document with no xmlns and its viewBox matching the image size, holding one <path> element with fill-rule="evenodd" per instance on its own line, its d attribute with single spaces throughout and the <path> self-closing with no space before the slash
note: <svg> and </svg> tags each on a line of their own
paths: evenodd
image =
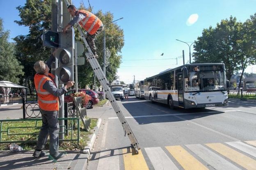
<svg viewBox="0 0 256 170">
<path fill-rule="evenodd" d="M 0 18 L 0 80 L 18 83 L 23 75 L 23 66 L 15 58 L 14 43 L 9 43 L 9 31 L 4 31 Z"/>
</svg>

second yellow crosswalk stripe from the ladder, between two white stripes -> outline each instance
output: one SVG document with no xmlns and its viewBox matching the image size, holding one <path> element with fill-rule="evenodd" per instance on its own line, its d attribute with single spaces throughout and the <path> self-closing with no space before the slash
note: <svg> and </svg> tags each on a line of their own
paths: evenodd
<svg viewBox="0 0 256 170">
<path fill-rule="evenodd" d="M 208 170 L 181 146 L 166 146 L 166 149 L 185 170 Z"/>
</svg>

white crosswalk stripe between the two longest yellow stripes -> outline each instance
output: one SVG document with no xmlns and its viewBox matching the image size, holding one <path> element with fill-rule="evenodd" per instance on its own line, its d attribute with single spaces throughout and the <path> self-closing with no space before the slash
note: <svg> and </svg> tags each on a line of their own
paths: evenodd
<svg viewBox="0 0 256 170">
<path fill-rule="evenodd" d="M 216 170 L 240 170 L 240 168 L 200 144 L 185 146 Z"/>
</svg>

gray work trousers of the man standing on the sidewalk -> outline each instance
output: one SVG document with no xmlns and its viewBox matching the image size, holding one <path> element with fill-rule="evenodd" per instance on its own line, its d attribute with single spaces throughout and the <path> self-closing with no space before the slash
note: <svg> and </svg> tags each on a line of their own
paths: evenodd
<svg viewBox="0 0 256 170">
<path fill-rule="evenodd" d="M 59 122 L 57 111 L 45 111 L 42 109 L 40 109 L 40 111 L 43 119 L 43 124 L 39 132 L 36 150 L 44 149 L 49 135 L 50 154 L 59 154 Z"/>
</svg>

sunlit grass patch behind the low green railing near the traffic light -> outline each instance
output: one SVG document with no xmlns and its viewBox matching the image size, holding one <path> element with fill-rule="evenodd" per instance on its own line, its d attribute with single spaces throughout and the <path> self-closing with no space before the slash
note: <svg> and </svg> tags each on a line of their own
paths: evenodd
<svg viewBox="0 0 256 170">
<path fill-rule="evenodd" d="M 96 126 L 98 119 L 91 119 L 90 129 Z M 2 130 L 7 131 L 7 127 L 14 127 L 9 129 L 8 133 L 13 135 L 7 135 L 7 132 L 2 132 L 1 141 L 35 141 L 36 135 L 40 131 L 42 121 L 16 121 L 16 122 L 2 122 Z M 89 135 L 93 132 L 85 131 L 83 129 L 82 121 L 80 121 L 80 141 L 77 145 L 77 141 L 64 141 L 59 142 L 59 150 L 81 150 L 87 146 L 89 141 Z M 65 139 L 71 139 L 71 131 L 68 131 L 68 135 L 64 137 Z M 73 139 L 77 138 L 77 128 L 73 128 Z M 49 136 L 48 136 L 49 140 Z M 13 142 L 10 142 L 13 143 Z M 9 150 L 10 143 L 1 143 L 0 150 Z M 36 147 L 36 142 L 21 142 L 17 143 L 24 150 L 34 150 Z M 46 150 L 49 150 L 49 142 L 45 146 Z"/>
</svg>

